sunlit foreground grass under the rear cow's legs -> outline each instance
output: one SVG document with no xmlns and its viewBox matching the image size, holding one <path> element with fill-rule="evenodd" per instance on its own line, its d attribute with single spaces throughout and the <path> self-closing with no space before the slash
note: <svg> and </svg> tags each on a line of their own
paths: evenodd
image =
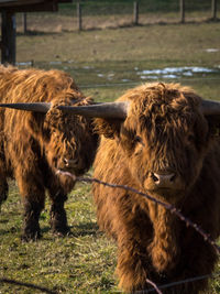
<svg viewBox="0 0 220 294">
<path fill-rule="evenodd" d="M 41 216 L 43 239 L 30 243 L 20 240 L 22 209 L 16 187 L 13 183 L 10 187 L 0 219 L 0 279 L 32 283 L 57 293 L 113 291 L 116 247 L 98 231 L 89 185 L 78 184 L 69 195 L 66 210 L 72 233 L 68 237 L 57 238 L 50 232 L 50 204 L 46 203 Z M 0 283 L 0 293 L 35 292 Z"/>
</svg>

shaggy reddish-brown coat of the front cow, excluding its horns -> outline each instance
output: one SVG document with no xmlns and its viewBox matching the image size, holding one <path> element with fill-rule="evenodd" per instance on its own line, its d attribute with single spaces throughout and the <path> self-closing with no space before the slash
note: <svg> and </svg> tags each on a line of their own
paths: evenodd
<svg viewBox="0 0 220 294">
<path fill-rule="evenodd" d="M 101 133 L 95 177 L 128 185 L 173 204 L 211 238 L 220 233 L 219 126 L 199 110 L 200 98 L 176 84 L 148 84 L 129 90 L 124 121 L 96 120 Z M 173 171 L 174 187 L 155 187 L 152 173 Z M 119 286 L 124 291 L 210 274 L 215 249 L 169 210 L 119 188 L 94 184 L 98 222 L 118 243 Z M 197 294 L 207 280 L 163 290 Z"/>
</svg>

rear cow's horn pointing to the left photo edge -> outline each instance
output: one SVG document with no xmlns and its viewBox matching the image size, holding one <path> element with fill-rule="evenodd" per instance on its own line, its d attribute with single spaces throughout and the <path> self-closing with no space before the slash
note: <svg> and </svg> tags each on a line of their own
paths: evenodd
<svg viewBox="0 0 220 294">
<path fill-rule="evenodd" d="M 46 102 L 35 102 L 35 104 L 0 104 L 0 107 L 46 113 L 50 110 L 50 108 L 51 108 L 51 104 L 46 104 Z"/>
</svg>

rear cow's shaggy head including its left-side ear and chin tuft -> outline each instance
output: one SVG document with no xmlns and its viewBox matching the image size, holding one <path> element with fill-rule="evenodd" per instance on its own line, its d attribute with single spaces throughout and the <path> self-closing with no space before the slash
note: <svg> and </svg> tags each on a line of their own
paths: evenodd
<svg viewBox="0 0 220 294">
<path fill-rule="evenodd" d="M 75 177 L 90 167 L 95 156 L 97 138 L 91 121 L 56 108 L 52 108 L 44 119 L 41 113 L 34 116 L 32 133 L 41 144 L 51 171 L 69 192 Z"/>
</svg>

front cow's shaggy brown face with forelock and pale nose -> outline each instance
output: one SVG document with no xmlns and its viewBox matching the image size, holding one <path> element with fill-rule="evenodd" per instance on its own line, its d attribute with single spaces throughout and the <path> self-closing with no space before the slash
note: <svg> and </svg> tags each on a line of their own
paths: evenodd
<svg viewBox="0 0 220 294">
<path fill-rule="evenodd" d="M 131 100 L 116 139 L 124 163 L 141 189 L 176 202 L 197 181 L 208 152 L 210 129 L 199 97 L 157 85 Z"/>
</svg>

